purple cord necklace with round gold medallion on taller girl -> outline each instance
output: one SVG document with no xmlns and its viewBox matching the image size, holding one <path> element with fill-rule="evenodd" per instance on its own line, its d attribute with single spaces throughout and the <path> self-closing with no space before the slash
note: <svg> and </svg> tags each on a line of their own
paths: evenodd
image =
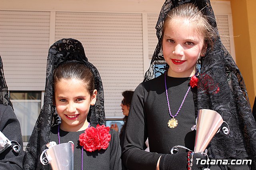
<svg viewBox="0 0 256 170">
<path fill-rule="evenodd" d="M 165 92 L 166 92 L 166 99 L 167 99 L 167 103 L 168 103 L 169 114 L 172 117 L 172 119 L 170 119 L 168 121 L 168 127 L 169 128 L 176 128 L 177 125 L 178 125 L 178 121 L 174 117 L 176 117 L 178 115 L 178 113 L 180 112 L 180 109 L 182 108 L 182 105 L 183 105 L 183 103 L 184 103 L 184 101 L 185 101 L 185 99 L 186 99 L 186 97 L 188 95 L 188 92 L 190 91 L 191 86 L 188 87 L 188 91 L 187 91 L 186 95 L 184 96 L 184 99 L 183 99 L 183 101 L 182 101 L 182 103 L 180 105 L 180 108 L 178 109 L 177 113 L 173 116 L 172 113 L 171 113 L 171 109 L 170 109 L 170 103 L 169 103 L 167 86 L 166 86 L 166 72 L 164 73 L 164 83 L 165 83 Z"/>
</svg>

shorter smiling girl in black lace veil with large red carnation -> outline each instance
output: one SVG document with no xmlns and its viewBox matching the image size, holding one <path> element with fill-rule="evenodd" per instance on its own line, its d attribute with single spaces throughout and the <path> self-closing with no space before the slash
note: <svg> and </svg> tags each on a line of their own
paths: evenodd
<svg viewBox="0 0 256 170">
<path fill-rule="evenodd" d="M 50 169 L 39 159 L 46 144 L 70 140 L 75 144 L 74 170 L 121 169 L 118 133 L 104 126 L 104 114 L 102 81 L 82 44 L 74 39 L 54 43 L 48 55 L 44 106 L 26 148 L 24 169 Z"/>
</svg>

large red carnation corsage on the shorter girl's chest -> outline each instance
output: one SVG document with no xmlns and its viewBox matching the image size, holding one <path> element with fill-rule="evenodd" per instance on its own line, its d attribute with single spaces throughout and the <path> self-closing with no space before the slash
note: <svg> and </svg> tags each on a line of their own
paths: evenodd
<svg viewBox="0 0 256 170">
<path fill-rule="evenodd" d="M 109 141 L 111 140 L 111 134 L 109 134 L 110 128 L 105 125 L 97 125 L 95 127 L 89 127 L 84 130 L 84 133 L 79 135 L 80 145 L 84 146 L 84 149 L 88 152 L 95 150 L 108 148 Z"/>
</svg>

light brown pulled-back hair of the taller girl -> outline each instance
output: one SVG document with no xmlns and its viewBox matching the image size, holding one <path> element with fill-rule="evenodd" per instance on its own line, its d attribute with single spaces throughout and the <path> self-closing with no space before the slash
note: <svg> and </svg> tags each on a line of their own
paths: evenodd
<svg viewBox="0 0 256 170">
<path fill-rule="evenodd" d="M 198 34 L 204 37 L 204 45 L 209 44 L 210 47 L 213 48 L 214 40 L 216 39 L 218 31 L 216 30 L 216 28 L 212 27 L 209 24 L 207 16 L 205 16 L 204 13 L 199 10 L 196 5 L 192 3 L 187 3 L 179 5 L 170 10 L 164 20 L 162 36 L 164 35 L 164 30 L 167 24 L 172 19 L 189 20 L 193 24 L 194 28 L 197 30 Z"/>
</svg>

